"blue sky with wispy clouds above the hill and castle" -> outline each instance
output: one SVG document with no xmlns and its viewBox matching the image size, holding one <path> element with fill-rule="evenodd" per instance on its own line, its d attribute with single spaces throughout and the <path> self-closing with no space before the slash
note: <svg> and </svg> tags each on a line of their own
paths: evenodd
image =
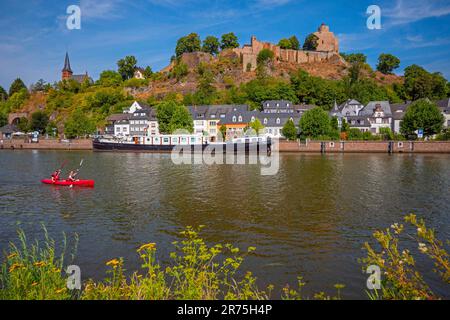
<svg viewBox="0 0 450 320">
<path fill-rule="evenodd" d="M 381 8 L 381 30 L 366 27 L 371 4 Z M 81 30 L 66 28 L 69 5 L 81 7 Z M 27 85 L 59 80 L 66 50 L 75 73 L 97 79 L 125 55 L 165 67 L 176 40 L 190 32 L 233 31 L 241 45 L 251 35 L 278 42 L 295 34 L 303 42 L 322 22 L 341 52 L 363 52 L 372 66 L 392 53 L 402 61 L 398 73 L 416 63 L 450 79 L 449 0 L 0 0 L 0 85 L 8 89 L 16 77 Z"/>
</svg>

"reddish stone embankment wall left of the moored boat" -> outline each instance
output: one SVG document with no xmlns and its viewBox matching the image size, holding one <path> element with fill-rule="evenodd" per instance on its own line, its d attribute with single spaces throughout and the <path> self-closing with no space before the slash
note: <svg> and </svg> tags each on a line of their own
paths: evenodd
<svg viewBox="0 0 450 320">
<path fill-rule="evenodd" d="M 92 140 L 80 139 L 60 141 L 57 139 L 39 140 L 31 143 L 27 140 L 3 140 L 0 149 L 4 150 L 92 150 Z"/>
</svg>

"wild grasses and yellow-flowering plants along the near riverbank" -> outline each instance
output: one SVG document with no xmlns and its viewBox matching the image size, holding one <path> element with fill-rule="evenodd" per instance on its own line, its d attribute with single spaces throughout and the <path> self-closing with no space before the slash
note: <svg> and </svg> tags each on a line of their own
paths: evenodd
<svg viewBox="0 0 450 320">
<path fill-rule="evenodd" d="M 405 217 L 405 225 L 393 224 L 390 228 L 374 233 L 376 244 L 366 243 L 367 256 L 361 259 L 363 270 L 369 265 L 381 270 L 381 289 L 368 291 L 370 299 L 439 299 L 415 268 L 415 259 L 409 249 L 400 249 L 404 236 L 417 241 L 421 254 L 433 260 L 442 280 L 450 284 L 450 262 L 445 245 L 437 240 L 434 231 L 416 216 Z M 414 232 L 406 232 L 407 228 Z M 88 280 L 81 290 L 67 288 L 65 260 L 73 259 L 76 245 L 68 252 L 66 241 L 57 248 L 45 228 L 43 243 L 30 242 L 19 231 L 19 243 L 10 244 L 0 270 L 0 299 L 8 300 L 161 300 L 161 299 L 270 299 L 274 290 L 281 290 L 282 299 L 342 299 L 345 286 L 335 284 L 333 294 L 319 292 L 312 297 L 304 296 L 303 279 L 298 278 L 296 287 L 259 288 L 251 272 L 238 276 L 245 257 L 256 250 L 249 247 L 242 251 L 230 244 L 207 245 L 198 231 L 187 227 L 180 233 L 182 240 L 174 242 L 171 264 L 162 266 L 156 261 L 157 245 L 143 244 L 136 249 L 142 267 L 131 277 L 126 277 L 125 262 L 113 258 L 104 262 L 107 277 L 100 282 Z M 64 237 L 65 239 L 65 237 Z M 77 241 L 76 241 L 77 242 Z M 447 241 L 448 245 L 448 241 Z M 377 249 L 374 249 L 374 248 Z M 58 252 L 58 254 L 57 254 Z M 343 291 L 343 292 L 342 292 Z"/>
</svg>

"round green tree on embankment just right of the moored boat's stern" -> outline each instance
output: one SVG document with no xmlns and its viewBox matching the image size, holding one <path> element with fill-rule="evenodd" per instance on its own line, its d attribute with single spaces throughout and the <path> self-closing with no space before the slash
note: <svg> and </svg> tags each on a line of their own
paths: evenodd
<svg viewBox="0 0 450 320">
<path fill-rule="evenodd" d="M 328 112 L 316 107 L 306 111 L 300 118 L 300 133 L 303 137 L 317 138 L 330 133 L 330 118 Z"/>
</svg>

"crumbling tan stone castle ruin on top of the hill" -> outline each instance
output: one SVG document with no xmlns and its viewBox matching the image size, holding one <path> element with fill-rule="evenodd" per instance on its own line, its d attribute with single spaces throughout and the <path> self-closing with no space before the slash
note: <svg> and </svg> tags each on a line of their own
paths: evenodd
<svg viewBox="0 0 450 320">
<path fill-rule="evenodd" d="M 309 63 L 329 60 L 331 57 L 339 56 L 339 42 L 330 28 L 323 24 L 314 32 L 317 37 L 317 48 L 315 51 L 282 49 L 270 42 L 261 42 L 255 36 L 251 38 L 251 43 L 242 48 L 233 49 L 241 58 L 243 71 L 254 71 L 257 67 L 258 54 L 263 49 L 273 51 L 275 61 L 290 63 Z"/>
</svg>

